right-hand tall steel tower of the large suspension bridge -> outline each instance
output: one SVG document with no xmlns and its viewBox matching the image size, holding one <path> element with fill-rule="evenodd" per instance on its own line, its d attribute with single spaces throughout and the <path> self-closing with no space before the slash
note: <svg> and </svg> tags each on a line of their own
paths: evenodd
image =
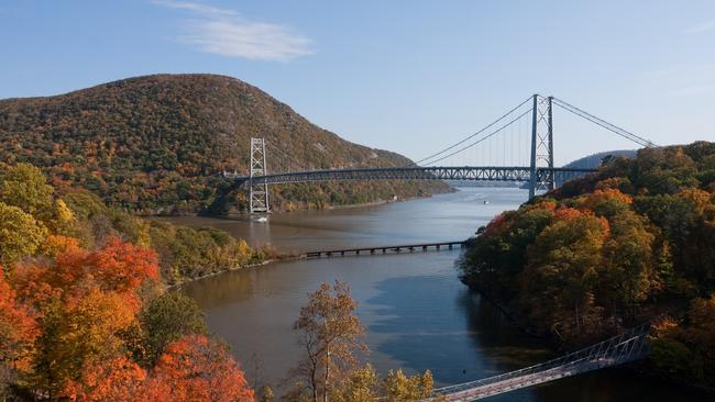
<svg viewBox="0 0 715 402">
<path fill-rule="evenodd" d="M 537 175 L 537 168 L 553 168 L 553 97 L 534 96 L 531 110 L 531 175 L 529 180 L 529 199 L 537 191 L 549 191 L 557 187 L 553 170 Z"/>
</svg>

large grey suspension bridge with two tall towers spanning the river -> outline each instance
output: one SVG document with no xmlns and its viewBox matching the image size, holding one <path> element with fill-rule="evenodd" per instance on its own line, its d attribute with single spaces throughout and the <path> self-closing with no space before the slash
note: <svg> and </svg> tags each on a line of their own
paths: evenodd
<svg viewBox="0 0 715 402">
<path fill-rule="evenodd" d="M 268 185 L 330 180 L 475 180 L 515 181 L 528 186 L 529 198 L 597 169 L 559 168 L 553 161 L 553 107 L 627 138 L 642 147 L 656 145 L 631 132 L 554 97 L 534 94 L 476 133 L 407 166 L 321 169 L 268 174 L 266 144 L 282 159 L 292 155 L 264 138 L 251 138 L 249 176 L 223 174 L 246 186 L 253 213 L 268 213 Z M 526 129 L 521 132 L 521 129 Z M 516 135 L 515 135 L 516 133 Z M 476 160 L 476 163 L 475 163 Z M 298 164 L 299 165 L 299 164 Z"/>
</svg>

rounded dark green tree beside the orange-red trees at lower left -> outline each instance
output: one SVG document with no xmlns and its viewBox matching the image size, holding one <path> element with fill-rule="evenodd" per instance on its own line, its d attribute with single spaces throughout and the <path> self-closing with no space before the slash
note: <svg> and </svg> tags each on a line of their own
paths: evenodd
<svg viewBox="0 0 715 402">
<path fill-rule="evenodd" d="M 204 314 L 194 300 L 167 292 L 148 302 L 139 316 L 144 365 L 153 367 L 166 345 L 190 334 L 206 334 Z"/>
</svg>

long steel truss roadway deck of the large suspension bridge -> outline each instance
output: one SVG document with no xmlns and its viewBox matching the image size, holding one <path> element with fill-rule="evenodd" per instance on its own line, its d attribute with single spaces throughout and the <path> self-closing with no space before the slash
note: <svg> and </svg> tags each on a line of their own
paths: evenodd
<svg viewBox="0 0 715 402">
<path fill-rule="evenodd" d="M 553 178 L 556 182 L 564 182 L 578 177 L 597 171 L 597 169 L 581 168 L 548 168 L 536 169 L 537 182 L 548 182 Z M 395 168 L 355 168 L 355 169 L 324 169 L 305 170 L 273 174 L 265 176 L 238 176 L 224 174 L 238 185 L 251 182 L 253 185 L 279 185 L 305 181 L 330 180 L 472 180 L 472 181 L 524 181 L 531 178 L 531 168 L 528 166 L 428 166 L 428 167 L 395 167 Z"/>
</svg>

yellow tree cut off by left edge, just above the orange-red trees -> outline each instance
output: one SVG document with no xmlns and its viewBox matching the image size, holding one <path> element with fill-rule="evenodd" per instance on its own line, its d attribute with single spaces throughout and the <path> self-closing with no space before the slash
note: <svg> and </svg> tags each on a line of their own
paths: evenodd
<svg viewBox="0 0 715 402">
<path fill-rule="evenodd" d="M 47 230 L 18 206 L 0 202 L 0 265 L 10 270 L 22 257 L 33 255 Z"/>
</svg>

